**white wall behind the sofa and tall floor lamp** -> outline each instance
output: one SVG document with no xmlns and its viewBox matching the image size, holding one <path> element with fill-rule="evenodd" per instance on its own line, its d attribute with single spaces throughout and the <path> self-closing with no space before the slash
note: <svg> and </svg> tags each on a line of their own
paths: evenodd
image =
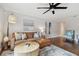
<svg viewBox="0 0 79 59">
<path fill-rule="evenodd" d="M 23 20 L 25 20 L 25 22 L 28 22 L 28 20 L 33 20 L 35 27 L 40 27 L 40 26 L 44 27 L 45 26 L 45 24 L 44 24 L 45 20 L 43 20 L 43 19 L 31 17 L 31 16 L 28 16 L 28 15 L 21 15 L 21 14 L 15 13 L 15 12 L 5 11 L 5 25 L 4 25 L 5 35 L 6 35 L 6 32 L 7 32 L 8 15 L 11 14 L 11 13 L 14 13 L 16 15 L 17 20 L 16 20 L 15 24 L 10 24 L 9 25 L 10 33 L 23 31 Z"/>
</svg>

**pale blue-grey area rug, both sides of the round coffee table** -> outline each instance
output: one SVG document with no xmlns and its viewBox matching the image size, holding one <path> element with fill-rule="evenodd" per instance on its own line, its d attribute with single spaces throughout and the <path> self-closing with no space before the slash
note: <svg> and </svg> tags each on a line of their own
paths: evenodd
<svg viewBox="0 0 79 59">
<path fill-rule="evenodd" d="M 11 50 L 6 50 L 1 55 L 2 56 L 14 56 L 14 52 Z M 41 49 L 40 56 L 76 56 L 76 55 L 62 48 L 59 48 L 55 45 L 51 45 L 51 46 Z"/>
</svg>

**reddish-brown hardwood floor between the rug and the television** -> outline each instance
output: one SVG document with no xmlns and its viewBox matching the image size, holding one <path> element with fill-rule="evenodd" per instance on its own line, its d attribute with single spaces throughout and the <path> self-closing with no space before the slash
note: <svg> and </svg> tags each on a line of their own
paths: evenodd
<svg viewBox="0 0 79 59">
<path fill-rule="evenodd" d="M 64 38 L 58 37 L 58 38 L 51 38 L 54 45 L 63 48 L 69 52 L 72 52 L 79 56 L 79 46 L 76 44 L 71 44 L 64 41 Z"/>
</svg>

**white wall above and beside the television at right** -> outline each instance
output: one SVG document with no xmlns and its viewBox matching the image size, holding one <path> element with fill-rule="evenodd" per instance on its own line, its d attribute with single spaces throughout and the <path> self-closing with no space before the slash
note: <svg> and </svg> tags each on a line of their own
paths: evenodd
<svg viewBox="0 0 79 59">
<path fill-rule="evenodd" d="M 77 34 L 79 35 L 79 16 L 66 18 L 65 30 L 75 30 L 75 40 L 77 42 Z"/>
</svg>

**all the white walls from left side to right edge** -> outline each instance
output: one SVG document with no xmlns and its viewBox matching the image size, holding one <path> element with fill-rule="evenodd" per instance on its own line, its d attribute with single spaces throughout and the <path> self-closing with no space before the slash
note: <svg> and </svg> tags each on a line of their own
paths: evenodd
<svg viewBox="0 0 79 59">
<path fill-rule="evenodd" d="M 11 12 L 5 11 L 5 27 L 7 25 L 7 17 Z M 52 27 L 51 27 L 51 34 L 59 34 L 60 33 L 60 22 L 64 22 L 65 30 L 75 30 L 76 34 L 79 34 L 79 17 L 66 17 L 61 19 L 40 19 L 35 18 L 33 16 L 28 15 L 22 15 L 19 13 L 14 13 L 17 17 L 16 24 L 10 24 L 10 33 L 17 32 L 17 31 L 23 31 L 23 19 L 27 20 L 33 20 L 35 27 L 44 27 L 45 21 L 51 21 Z M 28 22 L 28 21 L 27 21 Z M 6 29 L 4 30 L 6 32 Z"/>
</svg>

